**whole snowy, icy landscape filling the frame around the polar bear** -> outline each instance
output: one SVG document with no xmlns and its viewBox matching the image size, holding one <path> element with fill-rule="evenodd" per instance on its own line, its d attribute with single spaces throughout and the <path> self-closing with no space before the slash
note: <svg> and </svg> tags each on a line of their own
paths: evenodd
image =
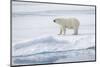
<svg viewBox="0 0 100 67">
<path fill-rule="evenodd" d="M 12 64 L 46 64 L 95 60 L 95 8 L 13 2 Z M 65 9 L 66 8 L 66 9 Z M 73 8 L 73 9 L 71 9 Z M 79 34 L 57 35 L 56 17 L 76 17 Z"/>
</svg>

